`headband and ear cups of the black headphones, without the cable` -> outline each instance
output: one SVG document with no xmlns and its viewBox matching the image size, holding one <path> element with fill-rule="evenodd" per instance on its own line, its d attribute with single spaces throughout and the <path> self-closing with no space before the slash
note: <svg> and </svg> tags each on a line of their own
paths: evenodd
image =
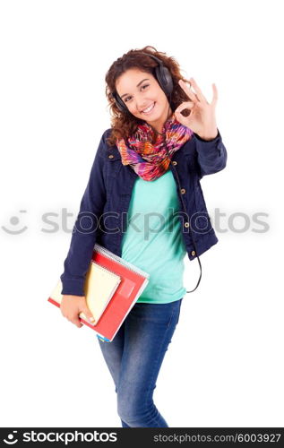
<svg viewBox="0 0 284 448">
<path fill-rule="evenodd" d="M 168 68 L 163 65 L 162 61 L 158 57 L 150 55 L 149 53 L 141 52 L 140 54 L 150 56 L 152 59 L 158 62 L 158 65 L 153 67 L 154 74 L 157 81 L 159 82 L 160 88 L 165 92 L 166 96 L 169 97 L 174 89 L 174 83 L 172 75 L 170 74 Z M 116 91 L 112 92 L 112 97 L 116 100 L 116 106 L 121 112 L 130 114 L 127 106 L 125 105 L 125 102 L 120 98 Z"/>
</svg>

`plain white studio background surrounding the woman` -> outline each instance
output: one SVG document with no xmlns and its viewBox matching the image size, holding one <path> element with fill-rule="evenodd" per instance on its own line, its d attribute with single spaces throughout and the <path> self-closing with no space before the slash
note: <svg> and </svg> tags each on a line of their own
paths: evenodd
<svg viewBox="0 0 284 448">
<path fill-rule="evenodd" d="M 1 426 L 121 426 L 95 333 L 47 297 L 110 127 L 105 74 L 145 45 L 175 56 L 210 101 L 216 83 L 228 150 L 227 167 L 202 178 L 219 243 L 185 295 L 154 402 L 171 427 L 284 425 L 280 6 L 1 2 Z M 198 278 L 185 258 L 186 288 Z"/>
</svg>

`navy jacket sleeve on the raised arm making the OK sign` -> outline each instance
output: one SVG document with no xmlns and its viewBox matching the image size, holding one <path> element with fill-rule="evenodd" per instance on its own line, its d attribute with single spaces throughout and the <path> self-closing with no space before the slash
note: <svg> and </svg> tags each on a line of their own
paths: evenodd
<svg viewBox="0 0 284 448">
<path fill-rule="evenodd" d="M 194 133 L 196 143 L 197 161 L 199 166 L 199 177 L 214 174 L 224 169 L 227 164 L 227 150 L 222 137 L 219 134 L 210 141 L 203 140 Z"/>
</svg>

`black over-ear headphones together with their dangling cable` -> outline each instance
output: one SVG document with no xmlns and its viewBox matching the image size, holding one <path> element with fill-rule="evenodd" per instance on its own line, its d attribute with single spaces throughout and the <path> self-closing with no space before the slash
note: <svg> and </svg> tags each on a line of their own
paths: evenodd
<svg viewBox="0 0 284 448">
<path fill-rule="evenodd" d="M 158 65 L 153 67 L 154 68 L 154 74 L 156 76 L 157 81 L 159 82 L 160 88 L 165 92 L 166 96 L 170 98 L 171 93 L 172 93 L 173 88 L 174 88 L 174 83 L 173 83 L 172 75 L 170 74 L 168 68 L 165 65 L 163 65 L 162 61 L 158 57 L 150 55 L 149 53 L 141 52 L 140 54 L 141 55 L 146 55 L 146 56 L 151 56 L 152 59 L 154 59 L 155 61 L 158 62 Z M 128 108 L 126 107 L 125 102 L 120 98 L 118 93 L 112 92 L 112 96 L 116 100 L 116 106 L 117 106 L 117 108 L 119 108 L 119 110 L 121 112 L 125 112 L 125 113 L 128 113 L 128 114 L 131 114 L 131 112 L 129 112 Z M 169 102 L 170 102 L 170 99 L 169 99 Z M 181 185 L 180 185 L 177 173 L 176 173 L 176 178 L 177 178 L 177 181 L 178 181 L 179 189 L 181 189 Z M 185 209 L 185 202 L 184 202 L 183 197 L 181 199 L 182 199 L 182 203 L 183 203 L 183 207 L 184 207 L 184 211 L 185 211 L 185 215 L 186 215 L 187 213 L 186 213 L 186 209 Z M 199 277 L 199 280 L 198 280 L 195 288 L 192 289 L 191 291 L 186 291 L 186 293 L 194 292 L 195 289 L 198 287 L 198 285 L 200 283 L 200 280 L 202 280 L 202 264 L 200 263 L 200 259 L 199 259 L 199 256 L 197 254 L 197 249 L 196 249 L 195 241 L 194 241 L 194 235 L 193 235 L 191 227 L 189 227 L 189 229 L 190 229 L 191 236 L 192 236 L 193 243 L 194 243 L 195 254 L 197 256 L 197 260 L 198 260 L 199 267 L 200 267 L 200 277 Z"/>
</svg>

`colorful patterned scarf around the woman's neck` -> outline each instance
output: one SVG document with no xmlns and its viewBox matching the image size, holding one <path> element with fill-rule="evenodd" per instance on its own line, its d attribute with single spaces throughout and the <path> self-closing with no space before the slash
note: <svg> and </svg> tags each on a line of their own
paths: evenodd
<svg viewBox="0 0 284 448">
<path fill-rule="evenodd" d="M 162 176 L 177 150 L 193 136 L 193 131 L 181 125 L 173 115 L 165 122 L 162 134 L 155 134 L 147 122 L 138 125 L 135 133 L 127 139 L 116 139 L 123 165 L 131 168 L 144 180 L 155 180 Z"/>
</svg>

